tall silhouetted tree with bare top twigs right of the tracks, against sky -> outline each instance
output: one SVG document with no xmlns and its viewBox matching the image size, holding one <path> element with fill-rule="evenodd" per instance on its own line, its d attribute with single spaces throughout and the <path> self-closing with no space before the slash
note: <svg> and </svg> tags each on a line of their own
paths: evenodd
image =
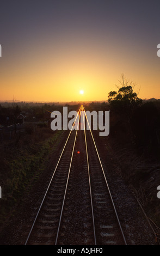
<svg viewBox="0 0 160 256">
<path fill-rule="evenodd" d="M 115 129 L 116 136 L 122 138 L 122 134 L 124 134 L 126 139 L 131 139 L 134 142 L 131 120 L 134 110 L 139 107 L 142 100 L 139 99 L 137 93 L 133 92 L 135 84 L 132 81 L 130 82 L 122 75 L 122 80 L 119 82 L 120 86 L 116 86 L 118 92 L 112 91 L 108 94 L 108 102 L 112 113 L 110 118 L 114 117 L 115 120 L 112 131 Z"/>
</svg>

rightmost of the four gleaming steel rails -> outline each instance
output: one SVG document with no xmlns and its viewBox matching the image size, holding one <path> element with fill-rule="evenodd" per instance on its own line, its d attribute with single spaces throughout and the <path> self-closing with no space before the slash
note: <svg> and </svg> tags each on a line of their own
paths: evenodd
<svg viewBox="0 0 160 256">
<path fill-rule="evenodd" d="M 82 106 L 82 109 L 85 113 L 85 109 L 84 107 Z M 108 192 L 109 192 L 109 196 L 110 196 L 110 199 L 112 201 L 112 205 L 113 205 L 113 208 L 114 208 L 114 212 L 115 212 L 115 215 L 116 215 L 116 219 L 118 221 L 118 224 L 119 224 L 119 228 L 121 230 L 121 234 L 122 234 L 122 237 L 123 237 L 123 240 L 125 242 L 125 245 L 127 245 L 127 242 L 126 242 L 126 239 L 125 239 L 125 235 L 124 235 L 124 232 L 122 230 L 122 227 L 121 227 L 121 224 L 120 224 L 120 221 L 119 221 L 119 217 L 118 217 L 118 213 L 116 211 L 116 208 L 115 208 L 115 205 L 114 205 L 114 202 L 113 202 L 113 198 L 112 198 L 112 194 L 110 193 L 110 189 L 109 189 L 109 186 L 108 186 L 108 182 L 107 182 L 107 179 L 106 179 L 106 175 L 104 173 L 104 169 L 103 169 L 103 166 L 102 166 L 102 162 L 101 162 L 101 159 L 100 159 L 100 156 L 99 156 L 99 153 L 98 153 L 98 150 L 97 150 L 97 147 L 96 147 L 96 143 L 95 143 L 95 140 L 94 140 L 94 137 L 93 137 L 93 133 L 91 132 L 91 128 L 90 128 L 90 125 L 89 125 L 89 121 L 88 121 L 88 118 L 87 118 L 87 114 L 85 113 L 85 118 L 87 120 L 87 123 L 88 123 L 88 126 L 89 126 L 89 130 L 90 130 L 90 133 L 91 133 L 91 137 L 93 138 L 93 142 L 94 142 L 94 145 L 95 145 L 95 149 L 96 149 L 96 153 L 97 153 L 97 156 L 99 158 L 99 161 L 100 161 L 100 165 L 101 165 L 101 169 L 102 169 L 102 172 L 103 172 L 103 175 L 104 175 L 104 179 L 106 181 L 106 185 L 107 185 L 107 188 L 108 188 Z M 85 124 L 84 124 L 85 125 Z"/>
</svg>

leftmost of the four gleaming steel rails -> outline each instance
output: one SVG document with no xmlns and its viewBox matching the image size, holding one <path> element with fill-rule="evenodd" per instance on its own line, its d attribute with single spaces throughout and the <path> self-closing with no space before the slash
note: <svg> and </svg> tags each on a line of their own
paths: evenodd
<svg viewBox="0 0 160 256">
<path fill-rule="evenodd" d="M 42 205 L 44 204 L 44 201 L 45 201 L 45 198 L 46 198 L 47 192 L 48 192 L 48 190 L 49 190 L 49 188 L 50 188 L 50 185 L 51 185 L 51 182 L 52 182 L 52 180 L 53 180 L 54 174 L 56 173 L 56 170 L 57 170 L 58 164 L 59 164 L 59 162 L 60 162 L 61 156 L 63 155 L 64 149 L 65 149 L 66 144 L 67 144 L 67 142 L 68 142 L 68 140 L 69 140 L 69 137 L 70 137 L 70 135 L 71 135 L 71 132 L 72 132 L 72 130 L 73 130 L 73 127 L 74 127 L 74 125 L 75 125 L 75 122 L 76 122 L 76 120 L 77 120 L 77 117 L 78 117 L 79 113 L 81 113 L 81 109 L 82 109 L 82 106 L 79 108 L 79 111 L 77 112 L 77 115 L 76 115 L 75 121 L 74 121 L 74 123 L 73 123 L 73 125 L 72 125 L 72 129 L 71 129 L 71 131 L 70 131 L 70 133 L 69 133 L 69 136 L 67 137 L 67 140 L 66 140 L 66 142 L 65 142 L 64 148 L 63 148 L 63 150 L 61 151 L 61 154 L 60 154 L 60 157 L 59 157 L 59 160 L 58 160 L 57 166 L 56 166 L 56 168 L 54 169 L 54 172 L 53 172 L 52 178 L 51 178 L 51 180 L 50 180 L 50 183 L 49 183 L 49 185 L 48 185 L 48 187 L 47 187 L 47 190 L 46 190 L 45 196 L 44 196 L 44 198 L 42 199 L 41 205 L 40 205 L 39 210 L 38 210 L 38 212 L 37 212 L 37 214 L 36 214 L 36 216 L 35 216 L 34 222 L 33 222 L 33 224 L 32 224 L 32 227 L 31 227 L 31 229 L 30 229 L 30 231 L 29 231 L 29 234 L 28 234 L 27 240 L 26 240 L 26 242 L 25 242 L 25 244 L 24 244 L 24 245 L 27 245 L 28 240 L 29 240 L 29 238 L 30 238 L 30 235 L 32 234 L 32 231 L 33 231 L 33 228 L 34 228 L 35 222 L 36 222 L 36 220 L 37 220 L 37 218 L 38 218 L 38 216 L 39 216 L 39 213 L 40 213 L 40 210 L 41 210 L 41 208 L 42 208 Z"/>
</svg>

